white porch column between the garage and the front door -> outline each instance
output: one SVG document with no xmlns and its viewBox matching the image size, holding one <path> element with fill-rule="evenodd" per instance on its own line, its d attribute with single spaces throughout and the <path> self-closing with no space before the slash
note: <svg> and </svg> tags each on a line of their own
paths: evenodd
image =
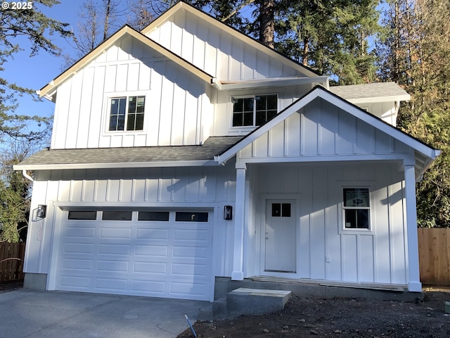
<svg viewBox="0 0 450 338">
<path fill-rule="evenodd" d="M 245 163 L 236 163 L 236 207 L 234 213 L 233 273 L 231 280 L 244 279 L 244 211 L 245 211 Z"/>
</svg>

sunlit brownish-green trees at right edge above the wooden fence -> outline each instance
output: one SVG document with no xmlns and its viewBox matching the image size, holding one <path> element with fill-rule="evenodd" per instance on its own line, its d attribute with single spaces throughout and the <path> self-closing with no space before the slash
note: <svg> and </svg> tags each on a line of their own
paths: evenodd
<svg viewBox="0 0 450 338">
<path fill-rule="evenodd" d="M 418 224 L 450 227 L 450 6 L 444 0 L 392 0 L 389 6 L 380 77 L 411 94 L 399 127 L 442 150 L 418 184 Z"/>
</svg>

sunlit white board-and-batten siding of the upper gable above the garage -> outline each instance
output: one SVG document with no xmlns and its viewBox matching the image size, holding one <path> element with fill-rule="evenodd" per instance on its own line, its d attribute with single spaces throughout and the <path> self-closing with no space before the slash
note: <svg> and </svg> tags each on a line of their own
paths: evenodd
<svg viewBox="0 0 450 338">
<path fill-rule="evenodd" d="M 52 149 L 201 144 L 210 136 L 210 84 L 125 36 L 58 87 Z M 146 96 L 144 127 L 109 132 L 109 100 Z"/>
</svg>

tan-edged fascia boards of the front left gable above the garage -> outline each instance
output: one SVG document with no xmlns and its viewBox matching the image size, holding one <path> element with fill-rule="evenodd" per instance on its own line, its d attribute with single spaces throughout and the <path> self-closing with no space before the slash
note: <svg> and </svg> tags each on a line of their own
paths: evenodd
<svg viewBox="0 0 450 338">
<path fill-rule="evenodd" d="M 79 70 L 84 68 L 84 66 L 89 64 L 91 61 L 94 61 L 97 56 L 110 48 L 110 46 L 113 46 L 117 42 L 117 40 L 122 39 L 122 37 L 124 37 L 125 35 L 130 35 L 131 37 L 138 39 L 140 42 L 143 42 L 144 44 L 150 46 L 155 51 L 158 51 L 158 53 L 169 58 L 169 60 L 181 65 L 186 70 L 193 73 L 194 75 L 197 75 L 206 82 L 210 84 L 214 82 L 214 77 L 212 75 L 205 73 L 205 71 L 184 60 L 184 58 L 181 58 L 181 56 L 174 54 L 172 51 L 158 44 L 157 42 L 154 42 L 152 39 L 150 39 L 146 35 L 143 35 L 141 32 L 134 30 L 134 28 L 130 27 L 129 25 L 124 25 L 122 28 L 120 28 L 120 30 L 117 30 L 117 32 L 111 35 L 108 39 L 105 39 L 105 41 L 99 44 L 95 49 L 93 49 L 88 54 L 86 54 L 86 56 L 77 61 L 77 63 L 70 66 L 70 68 L 58 75 L 54 80 L 49 82 L 49 84 L 46 84 L 44 87 L 42 87 L 39 91 L 37 91 L 37 94 L 40 97 L 44 96 L 46 99 L 51 99 L 51 101 L 54 101 L 54 94 L 57 87 L 61 83 L 63 83 L 65 80 L 68 80 L 68 78 L 72 75 L 75 75 Z"/>
</svg>

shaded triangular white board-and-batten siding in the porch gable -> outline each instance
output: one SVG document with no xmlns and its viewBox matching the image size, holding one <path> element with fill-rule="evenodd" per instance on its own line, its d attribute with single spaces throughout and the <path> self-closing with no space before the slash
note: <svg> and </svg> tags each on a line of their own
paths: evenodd
<svg viewBox="0 0 450 338">
<path fill-rule="evenodd" d="M 285 161 L 326 161 L 326 156 L 410 154 L 411 149 L 375 127 L 321 99 L 293 113 L 240 151 L 243 161 L 285 158 Z M 343 159 L 343 157 L 342 157 Z M 356 159 L 356 158 L 354 158 Z M 273 160 L 271 160 L 273 161 Z M 282 160 L 281 160 L 282 161 Z"/>
</svg>

